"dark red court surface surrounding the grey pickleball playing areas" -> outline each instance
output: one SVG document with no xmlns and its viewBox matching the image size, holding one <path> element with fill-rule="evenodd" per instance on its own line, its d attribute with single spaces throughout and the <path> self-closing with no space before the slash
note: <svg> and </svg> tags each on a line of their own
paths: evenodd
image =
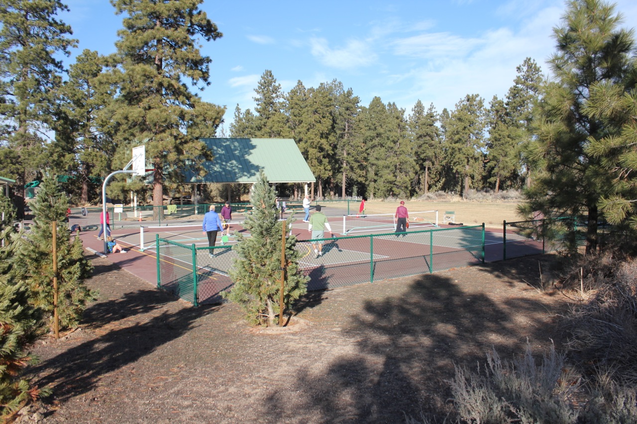
<svg viewBox="0 0 637 424">
<path fill-rule="evenodd" d="M 340 223 L 341 220 L 338 217 L 330 217 L 330 222 L 334 232 L 336 233 L 334 235 L 340 236 L 340 234 L 338 234 L 338 223 Z M 307 226 L 308 224 L 303 223 L 301 220 L 297 220 L 294 223 L 292 232 L 296 235 L 299 241 L 310 239 L 310 232 L 307 230 Z M 443 227 L 455 229 L 460 228 L 447 225 Z M 384 232 L 391 231 L 389 230 Z M 101 253 L 104 249 L 104 242 L 97 240 L 97 233 L 97 230 L 81 232 L 80 238 L 82 239 L 85 248 L 90 248 Z M 145 233 L 150 237 L 145 237 L 146 249 L 144 251 L 140 250 L 139 228 L 114 229 L 112 234 L 117 239 L 118 243 L 122 244 L 128 251 L 127 253 L 110 253 L 106 255 L 108 259 L 111 260 L 113 264 L 119 265 L 122 269 L 125 269 L 126 271 L 131 272 L 131 274 L 145 279 L 145 281 L 148 281 L 149 284 L 156 286 L 157 258 L 155 256 L 155 246 L 154 243 L 148 243 L 148 240 L 150 239 L 154 241 L 154 234 L 151 234 L 150 232 Z M 177 236 L 182 236 L 182 234 L 177 234 Z M 329 233 L 326 233 L 326 237 L 328 236 Z M 195 227 L 194 232 L 189 233 L 187 237 L 197 238 L 198 240 L 192 241 L 192 243 L 197 244 L 197 247 L 208 245 L 207 241 L 204 240 L 204 234 L 202 234 L 201 230 L 197 230 L 197 227 Z M 485 232 L 485 262 L 502 260 L 502 239 L 501 231 L 497 232 L 497 230 L 495 230 Z M 395 241 L 375 239 L 374 281 L 429 272 L 429 258 L 426 255 L 409 255 L 407 253 L 406 246 L 410 243 L 397 243 L 398 241 L 399 240 L 397 239 Z M 217 243 L 217 245 L 218 244 L 219 243 Z M 340 239 L 336 243 L 332 244 L 326 242 L 325 248 L 326 254 L 324 257 L 314 258 L 313 255 L 311 255 L 312 252 L 309 251 L 308 256 L 304 257 L 302 260 L 303 264 L 301 265 L 311 278 L 310 284 L 308 285 L 310 290 L 326 288 L 330 283 L 328 280 L 333 280 L 334 283 L 338 283 L 338 285 L 347 284 L 347 281 L 350 279 L 352 280 L 350 284 L 359 283 L 362 280 L 369 281 L 369 237 L 361 237 L 351 240 Z M 462 265 L 463 261 L 464 264 L 477 264 L 482 260 L 482 258 L 478 257 L 476 253 L 468 253 L 457 248 L 446 249 L 441 246 L 433 246 L 433 248 L 434 255 L 436 255 L 436 259 L 434 260 L 435 265 L 433 267 L 434 272 L 441 271 L 442 269 L 464 266 Z M 367 256 L 365 258 L 361 258 L 361 262 L 359 264 L 352 263 L 351 257 L 349 260 L 344 261 L 343 264 L 340 264 L 338 263 L 338 260 L 333 260 L 332 258 L 336 257 L 338 252 L 341 250 L 361 254 L 366 252 Z M 403 250 L 405 251 L 405 255 L 401 254 L 401 251 Z M 521 241 L 520 243 L 507 242 L 506 251 L 508 258 L 534 255 L 542 253 L 542 245 L 540 241 L 531 241 L 529 239 Z M 352 255 L 352 253 L 348 254 Z M 462 258 L 462 255 L 468 257 Z M 358 262 L 358 260 L 354 260 L 353 262 Z M 204 283 L 204 281 L 202 281 L 202 283 Z M 222 284 L 222 281 L 217 281 L 217 283 Z M 225 284 L 222 285 L 225 286 Z M 329 284 L 329 286 L 336 285 Z M 211 295 L 213 295 L 213 293 L 211 293 Z"/>
</svg>

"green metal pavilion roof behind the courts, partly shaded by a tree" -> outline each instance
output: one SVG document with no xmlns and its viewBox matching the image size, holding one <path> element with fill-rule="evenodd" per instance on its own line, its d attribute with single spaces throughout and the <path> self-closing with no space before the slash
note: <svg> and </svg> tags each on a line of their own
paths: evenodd
<svg viewBox="0 0 637 424">
<path fill-rule="evenodd" d="M 202 138 L 215 159 L 203 163 L 203 178 L 184 172 L 189 183 L 255 183 L 263 169 L 270 183 L 316 181 L 291 138 Z"/>
</svg>

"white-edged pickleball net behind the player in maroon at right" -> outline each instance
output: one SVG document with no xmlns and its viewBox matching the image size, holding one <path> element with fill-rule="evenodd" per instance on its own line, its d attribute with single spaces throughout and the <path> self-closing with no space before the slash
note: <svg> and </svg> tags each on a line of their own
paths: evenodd
<svg viewBox="0 0 637 424">
<path fill-rule="evenodd" d="M 410 230 L 438 227 L 438 211 L 410 212 L 408 221 Z M 393 213 L 343 215 L 341 234 L 396 230 L 396 225 L 397 218 Z"/>
</svg>

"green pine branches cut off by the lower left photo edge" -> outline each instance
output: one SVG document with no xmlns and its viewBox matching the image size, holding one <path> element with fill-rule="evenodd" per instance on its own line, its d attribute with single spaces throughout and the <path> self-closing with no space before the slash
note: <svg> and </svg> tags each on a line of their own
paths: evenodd
<svg viewBox="0 0 637 424">
<path fill-rule="evenodd" d="M 29 304 L 29 290 L 21 283 L 15 260 L 22 238 L 11 225 L 0 222 L 0 418 L 34 400 L 41 392 L 20 376 L 35 358 L 29 347 L 41 337 L 45 326 L 41 311 Z"/>
</svg>

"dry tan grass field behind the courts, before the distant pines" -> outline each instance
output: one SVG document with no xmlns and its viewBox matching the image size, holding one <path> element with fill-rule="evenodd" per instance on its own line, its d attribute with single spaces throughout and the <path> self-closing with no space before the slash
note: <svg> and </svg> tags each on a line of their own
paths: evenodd
<svg viewBox="0 0 637 424">
<path fill-rule="evenodd" d="M 486 227 L 502 228 L 503 220 L 507 222 L 522 220 L 517 215 L 517 202 L 430 202 L 408 201 L 405 206 L 409 211 L 433 211 L 438 210 L 438 219 L 442 222 L 445 211 L 455 211 L 455 222 L 465 225 L 479 225 L 485 223 Z M 368 201 L 367 213 L 394 213 L 399 202 Z M 351 208 L 351 206 L 350 206 Z M 358 207 L 355 208 L 357 212 Z"/>
</svg>

